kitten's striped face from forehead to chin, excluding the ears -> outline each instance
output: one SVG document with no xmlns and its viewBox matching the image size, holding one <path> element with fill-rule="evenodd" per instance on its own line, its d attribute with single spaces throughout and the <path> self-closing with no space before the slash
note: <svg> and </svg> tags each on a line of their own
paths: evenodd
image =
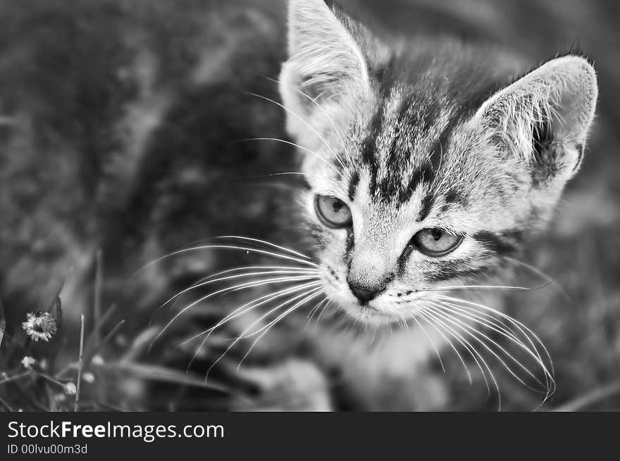
<svg viewBox="0 0 620 461">
<path fill-rule="evenodd" d="M 372 323 L 409 320 L 424 290 L 492 274 L 531 210 L 523 168 L 494 160 L 472 127 L 450 127 L 449 104 L 430 120 L 427 101 L 403 97 L 411 91 L 359 105 L 337 127 L 342 140 L 326 123 L 313 150 L 331 160 L 331 147 L 342 164 L 304 164 L 325 293 Z"/>
</svg>

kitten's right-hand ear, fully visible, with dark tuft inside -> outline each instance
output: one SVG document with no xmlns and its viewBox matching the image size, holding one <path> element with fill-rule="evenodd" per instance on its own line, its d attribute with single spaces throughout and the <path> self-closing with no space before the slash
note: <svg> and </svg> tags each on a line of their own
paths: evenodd
<svg viewBox="0 0 620 461">
<path fill-rule="evenodd" d="M 563 185 L 581 165 L 598 87 L 585 58 L 555 58 L 497 92 L 474 116 L 531 168 L 534 185 Z"/>
</svg>

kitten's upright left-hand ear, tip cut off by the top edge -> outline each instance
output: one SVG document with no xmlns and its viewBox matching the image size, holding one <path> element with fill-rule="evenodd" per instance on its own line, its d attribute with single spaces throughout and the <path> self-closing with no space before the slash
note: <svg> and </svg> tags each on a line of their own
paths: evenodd
<svg viewBox="0 0 620 461">
<path fill-rule="evenodd" d="M 363 34 L 363 27 L 323 0 L 289 0 L 289 58 L 280 73 L 280 94 L 291 134 L 307 132 L 299 118 L 311 118 L 317 103 L 338 103 L 345 91 L 368 91 Z"/>
</svg>

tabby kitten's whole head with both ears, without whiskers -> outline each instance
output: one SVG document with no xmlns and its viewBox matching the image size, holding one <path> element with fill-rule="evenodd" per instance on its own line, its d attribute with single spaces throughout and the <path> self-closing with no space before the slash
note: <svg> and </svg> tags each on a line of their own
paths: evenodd
<svg viewBox="0 0 620 461">
<path fill-rule="evenodd" d="M 582 57 L 515 80 L 454 42 L 385 46 L 323 0 L 290 1 L 289 48 L 325 293 L 359 320 L 407 320 L 428 289 L 497 272 L 579 168 L 597 99 Z"/>
</svg>

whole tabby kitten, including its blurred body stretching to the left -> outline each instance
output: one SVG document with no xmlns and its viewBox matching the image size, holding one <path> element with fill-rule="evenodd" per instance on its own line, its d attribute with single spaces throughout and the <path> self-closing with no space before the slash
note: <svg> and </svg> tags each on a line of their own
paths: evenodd
<svg viewBox="0 0 620 461">
<path fill-rule="evenodd" d="M 442 408 L 428 368 L 446 351 L 490 388 L 485 360 L 552 389 L 497 287 L 581 163 L 585 58 L 523 72 L 452 39 L 375 37 L 322 0 L 288 3 L 283 56 L 279 2 L 139 3 L 7 6 L 21 26 L 0 32 L 9 325 L 63 280 L 75 324 L 102 248 L 104 305 L 127 336 L 180 293 L 140 360 L 191 359 L 244 394 L 201 390 L 187 408 Z M 291 182 L 263 187 L 271 173 Z"/>
</svg>

